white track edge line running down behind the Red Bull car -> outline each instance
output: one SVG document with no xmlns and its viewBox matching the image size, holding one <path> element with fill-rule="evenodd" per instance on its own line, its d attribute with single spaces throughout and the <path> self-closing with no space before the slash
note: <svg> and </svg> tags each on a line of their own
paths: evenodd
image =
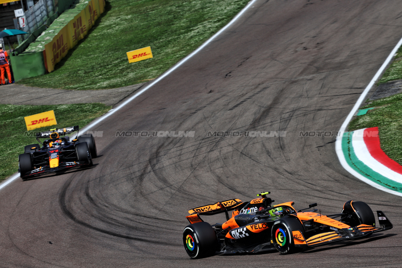
<svg viewBox="0 0 402 268">
<path fill-rule="evenodd" d="M 176 70 L 178 67 L 180 67 L 180 65 L 182 65 L 183 63 L 185 63 L 188 59 L 190 59 L 191 57 L 193 57 L 195 54 L 197 54 L 199 51 L 201 51 L 201 49 L 203 49 L 204 47 L 206 47 L 209 43 L 211 43 L 211 41 L 213 39 L 215 39 L 218 35 L 220 35 L 223 31 L 225 31 L 228 27 L 230 27 L 230 25 L 232 25 L 236 20 L 238 20 L 238 18 L 240 18 L 240 16 L 242 16 L 242 14 L 244 12 L 246 12 L 246 10 L 248 10 L 248 8 L 250 8 L 250 6 L 252 4 L 254 4 L 254 2 L 256 2 L 257 0 L 252 0 L 250 2 L 248 2 L 248 4 L 234 17 L 232 18 L 232 20 L 225 25 L 222 29 L 220 29 L 217 33 L 215 33 L 215 35 L 213 35 L 212 37 L 210 37 L 207 41 L 205 41 L 205 43 L 203 43 L 200 47 L 198 47 L 195 51 L 193 51 L 190 55 L 188 55 L 187 57 L 185 57 L 184 59 L 182 59 L 181 61 L 179 61 L 178 63 L 176 63 L 175 65 L 173 65 L 172 68 L 170 68 L 168 71 L 166 71 L 164 74 L 162 74 L 161 76 L 159 76 L 156 80 L 154 80 L 151 84 L 149 84 L 148 86 L 146 86 L 145 88 L 143 88 L 142 90 L 140 90 L 139 92 L 137 92 L 136 94 L 134 94 L 133 96 L 131 96 L 129 99 L 127 99 L 125 102 L 123 102 L 122 104 L 120 104 L 119 106 L 117 106 L 115 109 L 110 110 L 109 112 L 107 112 L 105 115 L 99 117 L 98 119 L 96 119 L 94 122 L 90 123 L 89 125 L 85 126 L 83 129 L 81 129 L 81 131 L 87 131 L 88 129 L 90 129 L 91 127 L 94 127 L 95 125 L 97 125 L 99 122 L 105 120 L 106 118 L 108 118 L 109 116 L 113 115 L 117 110 L 120 110 L 123 106 L 125 106 L 126 104 L 128 104 L 129 102 L 131 102 L 131 100 L 137 98 L 139 95 L 141 95 L 142 93 L 144 93 L 146 90 L 148 90 L 150 87 L 154 86 L 154 84 L 158 83 L 160 80 L 162 80 L 163 78 L 165 78 L 166 76 L 168 76 L 171 72 L 173 72 L 174 70 Z M 77 135 L 78 136 L 78 133 Z M 0 183 L 0 190 L 2 188 L 4 188 L 6 185 L 8 185 L 10 182 L 12 182 L 13 180 L 15 180 L 16 178 L 18 178 L 20 176 L 19 173 L 15 173 L 14 175 L 12 175 L 11 177 L 9 177 L 8 179 L 4 180 L 3 182 Z"/>
</svg>

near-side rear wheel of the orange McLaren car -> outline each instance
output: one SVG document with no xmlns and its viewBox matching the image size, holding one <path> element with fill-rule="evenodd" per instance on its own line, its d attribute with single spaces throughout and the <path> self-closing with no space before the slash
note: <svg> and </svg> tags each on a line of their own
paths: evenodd
<svg viewBox="0 0 402 268">
<path fill-rule="evenodd" d="M 184 228 L 183 245 L 190 258 L 199 259 L 214 255 L 217 251 L 218 240 L 209 223 L 199 222 Z"/>
</svg>

